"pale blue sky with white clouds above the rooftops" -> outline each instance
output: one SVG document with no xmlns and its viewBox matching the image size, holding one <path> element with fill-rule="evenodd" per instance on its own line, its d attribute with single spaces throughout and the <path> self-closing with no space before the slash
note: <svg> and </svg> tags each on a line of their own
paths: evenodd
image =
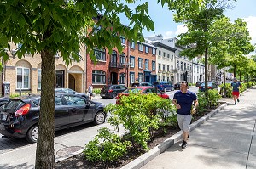
<svg viewBox="0 0 256 169">
<path fill-rule="evenodd" d="M 147 2 L 147 0 L 138 1 L 136 4 L 143 2 Z M 134 4 L 134 7 L 136 4 Z M 244 19 L 247 22 L 247 29 L 252 37 L 251 43 L 256 44 L 256 0 L 236 0 L 233 5 L 234 8 L 225 11 L 224 15 L 229 17 L 231 21 L 237 20 L 237 18 Z M 164 38 L 177 37 L 178 34 L 186 31 L 186 27 L 182 23 L 175 23 L 173 21 L 173 13 L 168 10 L 167 6 L 165 5 L 162 8 L 160 3 L 157 3 L 157 0 L 148 0 L 148 12 L 154 21 L 154 32 L 144 30 L 144 37 L 160 34 Z"/>
</svg>

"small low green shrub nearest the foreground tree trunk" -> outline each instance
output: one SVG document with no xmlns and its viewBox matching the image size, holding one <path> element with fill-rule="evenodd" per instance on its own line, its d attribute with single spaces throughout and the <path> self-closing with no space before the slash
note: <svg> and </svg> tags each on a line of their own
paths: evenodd
<svg viewBox="0 0 256 169">
<path fill-rule="evenodd" d="M 131 146 L 129 141 L 122 142 L 118 135 L 103 127 L 99 129 L 99 134 L 85 145 L 84 156 L 88 161 L 98 161 L 106 165 L 119 160 L 125 155 L 129 146 Z"/>
</svg>

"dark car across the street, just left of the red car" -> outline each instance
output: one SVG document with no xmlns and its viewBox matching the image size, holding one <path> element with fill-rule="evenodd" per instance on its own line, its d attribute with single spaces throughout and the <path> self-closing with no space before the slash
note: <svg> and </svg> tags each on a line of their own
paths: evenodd
<svg viewBox="0 0 256 169">
<path fill-rule="evenodd" d="M 119 93 L 124 92 L 126 89 L 127 87 L 124 85 L 106 85 L 102 87 L 101 97 L 115 99 Z"/>
</svg>

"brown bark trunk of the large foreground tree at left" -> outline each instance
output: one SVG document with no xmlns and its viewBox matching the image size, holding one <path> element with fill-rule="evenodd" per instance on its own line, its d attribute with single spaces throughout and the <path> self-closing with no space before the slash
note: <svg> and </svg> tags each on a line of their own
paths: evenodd
<svg viewBox="0 0 256 169">
<path fill-rule="evenodd" d="M 55 168 L 55 54 L 41 52 L 42 87 L 35 168 Z"/>
</svg>

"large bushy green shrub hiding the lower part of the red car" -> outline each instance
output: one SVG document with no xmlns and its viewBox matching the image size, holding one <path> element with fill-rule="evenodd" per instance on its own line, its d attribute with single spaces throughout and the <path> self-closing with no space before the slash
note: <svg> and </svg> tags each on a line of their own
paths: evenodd
<svg viewBox="0 0 256 169">
<path fill-rule="evenodd" d="M 148 149 L 148 140 L 153 130 L 160 126 L 160 114 L 172 112 L 170 99 L 162 99 L 155 93 L 130 93 L 119 99 L 120 104 L 109 104 L 106 111 L 112 114 L 110 124 L 118 127 L 119 123 L 129 131 L 131 144 L 138 148 Z"/>
</svg>

